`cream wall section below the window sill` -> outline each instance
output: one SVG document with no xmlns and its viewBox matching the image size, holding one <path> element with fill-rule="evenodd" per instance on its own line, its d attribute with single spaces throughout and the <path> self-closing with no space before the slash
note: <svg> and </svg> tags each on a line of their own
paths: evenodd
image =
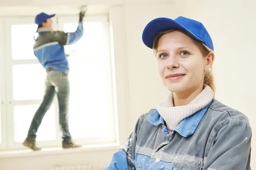
<svg viewBox="0 0 256 170">
<path fill-rule="evenodd" d="M 113 150 L 0 159 L 0 170 L 51 170 L 52 166 L 109 164 Z"/>
</svg>

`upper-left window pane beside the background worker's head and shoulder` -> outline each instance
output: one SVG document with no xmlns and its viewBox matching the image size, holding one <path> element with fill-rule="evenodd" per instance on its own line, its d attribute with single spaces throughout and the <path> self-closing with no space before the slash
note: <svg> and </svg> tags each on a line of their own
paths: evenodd
<svg viewBox="0 0 256 170">
<path fill-rule="evenodd" d="M 37 25 L 12 26 L 12 58 L 36 59 L 33 52 L 34 36 Z"/>
</svg>

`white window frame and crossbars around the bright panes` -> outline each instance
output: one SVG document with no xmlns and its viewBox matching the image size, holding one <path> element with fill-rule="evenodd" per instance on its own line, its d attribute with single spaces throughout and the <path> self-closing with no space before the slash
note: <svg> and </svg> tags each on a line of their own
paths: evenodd
<svg viewBox="0 0 256 170">
<path fill-rule="evenodd" d="M 57 16 L 54 18 L 56 27 L 63 29 L 64 23 L 78 23 L 78 17 L 67 17 L 67 16 Z M 12 59 L 12 42 L 11 42 L 11 28 L 12 25 L 18 24 L 34 24 L 34 17 L 4 17 L 0 18 L 0 35 L 2 34 L 3 39 L 0 40 L 0 55 L 1 56 L 9 56 L 9 57 L 0 57 L 0 78 L 5 80 L 0 82 L 0 109 L 1 109 L 1 135 L 2 135 L 2 143 L 0 144 L 0 150 L 17 150 L 23 149 L 23 145 L 20 142 L 15 142 L 14 140 L 14 117 L 13 117 L 13 107 L 15 105 L 32 105 L 32 104 L 41 104 L 41 99 L 39 100 L 25 100 L 25 101 L 14 101 L 13 99 L 13 87 L 12 87 L 12 67 L 16 64 L 38 64 L 38 59 L 22 59 L 22 60 L 13 60 Z M 56 22 L 58 20 L 58 23 Z M 104 26 L 104 35 L 105 36 L 105 56 L 108 59 L 108 66 L 110 70 L 110 77 L 112 77 L 112 65 L 111 65 L 111 52 L 110 52 L 110 30 L 109 30 L 109 22 L 107 15 L 99 15 L 99 16 L 86 16 L 84 17 L 84 22 L 102 22 Z M 4 43 L 3 43 L 4 42 Z M 2 67 L 3 65 L 3 67 Z M 112 100 L 109 101 L 109 105 L 113 105 L 112 113 L 108 115 L 109 125 L 112 125 L 109 130 L 113 132 L 108 135 L 107 138 L 85 138 L 85 139 L 75 139 L 76 143 L 78 144 L 97 144 L 97 143 L 113 143 L 117 142 L 117 132 L 116 130 L 116 102 L 114 101 L 114 93 L 113 91 L 113 78 L 111 81 L 111 89 L 109 93 L 112 96 Z M 4 91 L 4 93 L 3 93 Z M 2 104 L 3 103 L 3 104 Z M 61 132 L 59 129 L 58 123 L 58 100 L 55 96 L 55 99 L 52 103 L 55 105 L 55 129 L 56 129 L 56 140 L 54 141 L 39 141 L 37 145 L 39 147 L 53 147 L 53 146 L 60 146 L 61 144 Z M 96 121 L 96 120 L 95 120 Z M 92 127 L 93 128 L 93 127 Z M 103 129 L 104 130 L 104 129 Z M 81 131 L 81 133 L 83 133 Z M 86 130 L 84 130 L 86 133 Z"/>
</svg>

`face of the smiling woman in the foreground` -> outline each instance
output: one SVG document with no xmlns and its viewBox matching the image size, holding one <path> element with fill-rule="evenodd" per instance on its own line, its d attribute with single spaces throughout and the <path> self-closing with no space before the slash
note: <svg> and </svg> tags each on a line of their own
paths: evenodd
<svg viewBox="0 0 256 170">
<path fill-rule="evenodd" d="M 204 71 L 209 68 L 207 57 L 186 34 L 172 31 L 160 38 L 157 69 L 169 91 L 179 93 L 202 87 Z"/>
</svg>

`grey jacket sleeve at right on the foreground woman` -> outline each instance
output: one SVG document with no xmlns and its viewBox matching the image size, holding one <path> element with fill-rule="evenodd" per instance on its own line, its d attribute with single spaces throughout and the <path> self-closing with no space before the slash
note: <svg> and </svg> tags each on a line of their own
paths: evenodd
<svg viewBox="0 0 256 170">
<path fill-rule="evenodd" d="M 250 125 L 231 119 L 216 133 L 203 170 L 250 170 Z"/>
</svg>

